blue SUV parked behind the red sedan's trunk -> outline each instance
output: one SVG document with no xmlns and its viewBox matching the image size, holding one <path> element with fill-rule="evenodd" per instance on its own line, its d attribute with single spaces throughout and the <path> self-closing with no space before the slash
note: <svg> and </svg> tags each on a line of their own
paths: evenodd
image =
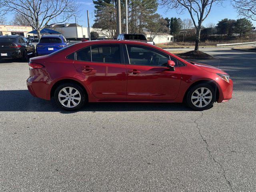
<svg viewBox="0 0 256 192">
<path fill-rule="evenodd" d="M 48 55 L 69 45 L 63 35 L 43 35 L 36 45 L 36 55 Z"/>
</svg>

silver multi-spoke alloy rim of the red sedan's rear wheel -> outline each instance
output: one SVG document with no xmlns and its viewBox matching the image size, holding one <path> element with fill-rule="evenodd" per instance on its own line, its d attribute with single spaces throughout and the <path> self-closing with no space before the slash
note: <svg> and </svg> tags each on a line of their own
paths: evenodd
<svg viewBox="0 0 256 192">
<path fill-rule="evenodd" d="M 58 99 L 63 106 L 73 108 L 80 103 L 81 94 L 74 87 L 64 87 L 58 93 Z"/>
</svg>

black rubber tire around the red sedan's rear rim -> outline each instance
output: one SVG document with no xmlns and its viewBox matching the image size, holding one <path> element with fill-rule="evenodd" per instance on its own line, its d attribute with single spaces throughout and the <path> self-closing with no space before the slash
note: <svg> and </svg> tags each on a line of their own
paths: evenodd
<svg viewBox="0 0 256 192">
<path fill-rule="evenodd" d="M 67 105 L 67 103 L 68 103 L 68 101 L 69 101 L 69 102 L 70 102 L 70 107 L 64 106 L 64 105 L 60 102 L 58 95 L 59 95 L 60 91 L 61 91 L 63 88 L 66 88 L 66 87 L 72 87 L 72 88 L 73 88 L 73 91 L 76 91 L 76 90 L 77 90 L 77 91 L 79 92 L 79 94 L 80 94 L 80 102 L 75 99 L 76 96 L 74 96 L 74 97 L 71 98 L 71 96 L 70 96 L 70 94 L 69 94 L 70 92 L 68 92 L 68 91 L 67 91 L 67 92 L 68 92 L 68 97 L 67 97 L 68 100 L 66 100 L 66 101 L 64 102 L 64 105 Z M 74 90 L 74 89 L 76 89 L 76 90 Z M 70 89 L 69 89 L 69 90 L 70 90 Z M 72 93 L 74 94 L 74 92 L 72 92 Z M 63 91 L 61 92 L 61 94 L 64 95 L 64 96 L 67 96 Z M 71 94 L 71 95 L 72 95 L 72 94 Z M 62 101 L 63 101 L 63 100 L 65 100 L 64 98 L 65 98 L 65 97 L 61 97 L 60 99 L 62 99 Z M 54 91 L 54 99 L 55 99 L 56 103 L 58 104 L 58 106 L 60 106 L 60 108 L 62 108 L 62 109 L 64 109 L 64 110 L 67 110 L 67 111 L 76 111 L 76 110 L 82 108 L 82 107 L 85 105 L 85 103 L 86 103 L 86 93 L 84 92 L 84 90 L 82 89 L 82 87 L 79 86 L 78 84 L 75 84 L 75 83 L 64 83 L 64 84 L 59 85 L 59 86 L 56 88 L 56 90 Z M 74 106 L 74 104 L 72 103 L 72 99 L 73 99 L 73 102 L 77 102 L 78 105 Z"/>
</svg>

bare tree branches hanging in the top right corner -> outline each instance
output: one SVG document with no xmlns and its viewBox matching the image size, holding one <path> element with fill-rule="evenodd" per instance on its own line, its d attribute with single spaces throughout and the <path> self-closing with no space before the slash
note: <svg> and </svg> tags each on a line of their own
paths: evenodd
<svg viewBox="0 0 256 192">
<path fill-rule="evenodd" d="M 232 4 L 240 16 L 256 21 L 256 0 L 233 0 Z"/>
</svg>

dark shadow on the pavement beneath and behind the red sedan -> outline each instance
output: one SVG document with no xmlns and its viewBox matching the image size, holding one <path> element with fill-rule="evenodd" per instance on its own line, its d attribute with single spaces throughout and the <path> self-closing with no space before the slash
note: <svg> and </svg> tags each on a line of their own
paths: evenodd
<svg viewBox="0 0 256 192">
<path fill-rule="evenodd" d="M 55 101 L 43 100 L 30 95 L 28 90 L 0 90 L 1 111 L 62 112 Z M 190 111 L 182 103 L 89 103 L 79 111 Z"/>
</svg>

